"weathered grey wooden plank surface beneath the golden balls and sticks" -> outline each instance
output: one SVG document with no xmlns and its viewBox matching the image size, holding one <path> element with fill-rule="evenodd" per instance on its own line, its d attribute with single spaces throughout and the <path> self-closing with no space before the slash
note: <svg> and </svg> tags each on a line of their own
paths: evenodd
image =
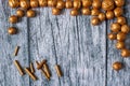
<svg viewBox="0 0 130 86">
<path fill-rule="evenodd" d="M 125 6 L 128 22 L 129 3 L 127 0 Z M 130 59 L 122 58 L 115 42 L 106 37 L 113 20 L 92 26 L 91 16 L 73 17 L 69 10 L 54 16 L 51 9 L 46 8 L 36 9 L 37 17 L 24 17 L 18 24 L 11 25 L 8 17 L 15 11 L 8 6 L 8 0 L 0 0 L 0 86 L 130 86 Z M 18 34 L 8 34 L 11 26 L 18 28 Z M 16 45 L 21 49 L 14 57 Z M 36 60 L 47 59 L 51 81 L 38 70 L 36 82 L 27 74 L 21 76 L 13 64 L 15 59 L 24 68 Z M 116 72 L 112 69 L 114 61 L 122 61 L 126 67 Z M 56 63 L 62 68 L 63 77 L 55 73 Z"/>
</svg>

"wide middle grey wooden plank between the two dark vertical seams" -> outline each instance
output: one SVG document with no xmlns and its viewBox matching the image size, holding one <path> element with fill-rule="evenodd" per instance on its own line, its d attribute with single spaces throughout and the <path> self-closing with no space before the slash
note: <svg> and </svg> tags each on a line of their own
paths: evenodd
<svg viewBox="0 0 130 86">
<path fill-rule="evenodd" d="M 39 86 L 105 86 L 106 29 L 90 24 L 90 17 L 73 17 L 66 11 L 53 16 L 50 9 L 37 10 L 29 19 L 29 53 L 31 60 L 48 59 L 52 71 L 50 82 L 37 71 Z M 64 72 L 57 77 L 54 64 Z"/>
</svg>

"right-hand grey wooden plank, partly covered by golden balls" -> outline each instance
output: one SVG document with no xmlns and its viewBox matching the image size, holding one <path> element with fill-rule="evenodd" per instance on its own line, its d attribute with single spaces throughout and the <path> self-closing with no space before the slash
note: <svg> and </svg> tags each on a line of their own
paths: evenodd
<svg viewBox="0 0 130 86">
<path fill-rule="evenodd" d="M 130 1 L 126 0 L 127 4 L 125 6 L 125 16 L 127 17 L 128 24 L 130 25 Z M 109 32 L 109 25 L 113 22 L 108 22 L 108 32 Z M 129 38 L 127 40 L 129 46 Z M 129 58 L 122 58 L 120 56 L 120 51 L 117 51 L 115 47 L 116 41 L 107 41 L 107 86 L 130 86 L 130 59 Z M 115 61 L 121 61 L 125 64 L 125 68 L 120 70 L 119 72 L 116 72 L 113 70 L 112 64 Z"/>
</svg>

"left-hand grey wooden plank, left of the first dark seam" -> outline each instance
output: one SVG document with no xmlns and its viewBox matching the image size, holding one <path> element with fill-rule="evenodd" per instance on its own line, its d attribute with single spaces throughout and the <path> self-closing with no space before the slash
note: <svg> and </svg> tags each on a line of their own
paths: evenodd
<svg viewBox="0 0 130 86">
<path fill-rule="evenodd" d="M 29 86 L 29 77 L 21 76 L 13 64 L 15 59 L 20 60 L 23 67 L 28 64 L 28 33 L 27 20 L 11 25 L 8 17 L 15 14 L 15 10 L 8 6 L 8 0 L 0 0 L 0 86 Z M 16 35 L 8 34 L 8 28 L 15 26 L 20 32 Z M 14 57 L 15 46 L 21 46 L 18 56 Z"/>
</svg>

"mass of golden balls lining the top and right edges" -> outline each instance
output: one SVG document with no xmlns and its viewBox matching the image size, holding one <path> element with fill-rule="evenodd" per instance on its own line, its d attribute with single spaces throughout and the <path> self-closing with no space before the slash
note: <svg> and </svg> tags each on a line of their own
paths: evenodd
<svg viewBox="0 0 130 86">
<path fill-rule="evenodd" d="M 79 14 L 92 15 L 91 24 L 93 26 L 116 17 L 116 23 L 110 25 L 108 39 L 117 40 L 116 47 L 121 51 L 122 57 L 130 56 L 130 51 L 127 49 L 125 44 L 127 34 L 130 32 L 126 17 L 122 16 L 125 0 L 9 0 L 9 5 L 12 9 L 17 9 L 16 15 L 9 17 L 9 22 L 12 24 L 17 23 L 18 18 L 23 17 L 25 14 L 27 17 L 35 17 L 36 11 L 32 9 L 46 6 L 52 8 L 53 15 L 60 15 L 63 9 L 70 9 L 72 16 Z M 11 27 L 8 32 L 15 34 L 17 30 Z M 120 64 L 116 62 L 113 66 L 114 69 L 117 70 L 115 64 L 120 68 Z"/>
</svg>

